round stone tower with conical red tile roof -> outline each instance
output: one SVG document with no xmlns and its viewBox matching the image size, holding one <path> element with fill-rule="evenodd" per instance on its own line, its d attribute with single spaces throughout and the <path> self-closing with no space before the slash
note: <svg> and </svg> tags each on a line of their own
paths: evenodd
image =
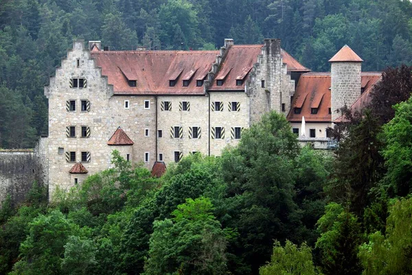
<svg viewBox="0 0 412 275">
<path fill-rule="evenodd" d="M 331 111 L 332 122 L 341 116 L 337 110 L 350 107 L 361 96 L 361 64 L 363 62 L 349 46 L 345 45 L 332 58 Z"/>
</svg>

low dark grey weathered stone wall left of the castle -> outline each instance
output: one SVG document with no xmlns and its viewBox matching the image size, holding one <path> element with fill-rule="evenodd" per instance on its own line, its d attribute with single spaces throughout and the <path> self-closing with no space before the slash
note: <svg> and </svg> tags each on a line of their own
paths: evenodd
<svg viewBox="0 0 412 275">
<path fill-rule="evenodd" d="M 14 204 L 24 201 L 34 181 L 45 184 L 42 164 L 33 151 L 0 151 L 0 206 L 8 195 Z"/>
</svg>

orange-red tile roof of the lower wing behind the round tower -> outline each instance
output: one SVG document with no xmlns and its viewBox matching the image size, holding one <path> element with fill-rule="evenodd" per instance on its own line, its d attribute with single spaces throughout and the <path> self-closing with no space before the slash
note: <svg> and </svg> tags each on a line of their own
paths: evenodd
<svg viewBox="0 0 412 275">
<path fill-rule="evenodd" d="M 365 98 L 366 94 L 369 94 L 371 87 L 380 76 L 381 73 L 374 72 L 361 74 L 361 87 L 365 91 L 361 98 Z M 301 122 L 302 116 L 304 116 L 306 122 L 330 122 L 332 120 L 332 115 L 329 113 L 329 108 L 331 108 L 330 83 L 330 73 L 302 74 L 287 116 L 288 121 Z M 301 113 L 295 113 L 295 108 L 301 108 Z M 312 108 L 318 109 L 317 114 L 312 114 Z"/>
</svg>

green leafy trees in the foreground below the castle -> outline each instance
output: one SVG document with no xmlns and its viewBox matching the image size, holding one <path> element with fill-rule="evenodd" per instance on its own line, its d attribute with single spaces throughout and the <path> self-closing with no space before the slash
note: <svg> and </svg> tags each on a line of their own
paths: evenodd
<svg viewBox="0 0 412 275">
<path fill-rule="evenodd" d="M 220 157 L 152 177 L 113 168 L 70 190 L 34 182 L 0 209 L 0 274 L 412 274 L 412 67 L 388 68 L 334 151 L 275 111 Z"/>
</svg>

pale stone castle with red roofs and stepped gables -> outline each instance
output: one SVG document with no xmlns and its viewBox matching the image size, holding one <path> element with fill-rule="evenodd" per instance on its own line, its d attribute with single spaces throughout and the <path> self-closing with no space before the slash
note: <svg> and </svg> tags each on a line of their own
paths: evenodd
<svg viewBox="0 0 412 275">
<path fill-rule="evenodd" d="M 272 110 L 299 142 L 327 148 L 336 110 L 361 104 L 381 76 L 361 72 L 347 46 L 330 63 L 331 73 L 310 72 L 279 39 L 225 39 L 218 51 L 109 51 L 100 41 L 74 41 L 45 87 L 49 135 L 39 150 L 49 193 L 111 167 L 113 150 L 155 175 L 190 153 L 220 155 Z"/>
</svg>

